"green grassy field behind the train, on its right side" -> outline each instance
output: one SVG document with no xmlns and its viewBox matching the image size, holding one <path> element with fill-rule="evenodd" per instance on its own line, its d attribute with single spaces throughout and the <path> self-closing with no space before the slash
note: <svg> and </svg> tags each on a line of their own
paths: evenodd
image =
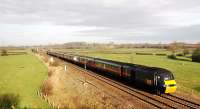
<svg viewBox="0 0 200 109">
<path fill-rule="evenodd" d="M 70 50 L 65 50 L 70 51 Z M 129 62 L 152 67 L 166 68 L 175 75 L 178 90 L 196 92 L 200 94 L 200 63 L 191 62 L 190 58 L 178 57 L 177 60 L 169 59 L 167 56 L 136 55 L 140 53 L 164 53 L 170 54 L 165 49 L 107 49 L 107 50 L 72 50 L 77 53 L 93 57 Z M 129 53 L 130 52 L 130 53 Z"/>
</svg>

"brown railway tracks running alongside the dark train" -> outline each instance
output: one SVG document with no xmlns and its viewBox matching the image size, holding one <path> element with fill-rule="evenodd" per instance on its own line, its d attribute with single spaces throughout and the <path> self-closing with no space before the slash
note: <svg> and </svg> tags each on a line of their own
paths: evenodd
<svg viewBox="0 0 200 109">
<path fill-rule="evenodd" d="M 152 106 L 154 106 L 155 108 L 190 108 L 190 109 L 198 109 L 200 108 L 200 104 L 195 103 L 195 102 L 191 102 L 189 100 L 180 98 L 178 96 L 175 95 L 163 95 L 163 96 L 157 96 L 157 95 L 152 95 L 148 92 L 144 92 L 144 91 L 140 91 L 137 89 L 134 89 L 132 87 L 126 86 L 120 82 L 114 81 L 110 78 L 104 77 L 102 75 L 96 74 L 90 70 L 86 70 L 82 67 L 79 67 L 77 65 L 74 65 L 72 63 L 67 62 L 69 66 L 71 66 L 74 69 L 79 70 L 80 72 L 84 72 L 85 74 L 99 80 L 102 81 L 114 88 L 119 89 L 120 91 L 123 91 L 143 102 L 146 102 Z"/>
</svg>

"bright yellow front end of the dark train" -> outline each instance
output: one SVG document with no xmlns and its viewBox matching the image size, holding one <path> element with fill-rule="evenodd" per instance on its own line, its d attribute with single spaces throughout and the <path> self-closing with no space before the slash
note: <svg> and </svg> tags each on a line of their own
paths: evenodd
<svg viewBox="0 0 200 109">
<path fill-rule="evenodd" d="M 176 81 L 175 80 L 165 80 L 165 93 L 174 93 L 176 91 Z"/>
</svg>

